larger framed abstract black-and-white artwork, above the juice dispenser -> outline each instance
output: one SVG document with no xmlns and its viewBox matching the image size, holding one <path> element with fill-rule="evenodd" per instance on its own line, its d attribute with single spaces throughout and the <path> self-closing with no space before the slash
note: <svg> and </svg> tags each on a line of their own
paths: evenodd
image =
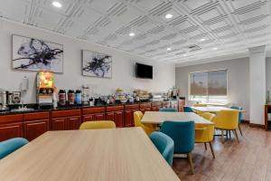
<svg viewBox="0 0 271 181">
<path fill-rule="evenodd" d="M 15 70 L 63 72 L 63 45 L 13 34 Z"/>
</svg>

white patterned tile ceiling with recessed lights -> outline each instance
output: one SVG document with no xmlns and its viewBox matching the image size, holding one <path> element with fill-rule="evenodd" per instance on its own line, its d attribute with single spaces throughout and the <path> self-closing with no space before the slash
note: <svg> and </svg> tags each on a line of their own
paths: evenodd
<svg viewBox="0 0 271 181">
<path fill-rule="evenodd" d="M 248 53 L 271 42 L 269 0 L 59 2 L 61 8 L 51 0 L 0 0 L 0 16 L 159 62 Z"/>
</svg>

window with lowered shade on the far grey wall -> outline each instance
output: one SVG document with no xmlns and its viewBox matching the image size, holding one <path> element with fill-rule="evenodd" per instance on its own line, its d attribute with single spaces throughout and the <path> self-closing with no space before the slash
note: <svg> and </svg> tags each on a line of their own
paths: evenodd
<svg viewBox="0 0 271 181">
<path fill-rule="evenodd" d="M 227 102 L 227 70 L 189 73 L 189 100 Z"/>
</svg>

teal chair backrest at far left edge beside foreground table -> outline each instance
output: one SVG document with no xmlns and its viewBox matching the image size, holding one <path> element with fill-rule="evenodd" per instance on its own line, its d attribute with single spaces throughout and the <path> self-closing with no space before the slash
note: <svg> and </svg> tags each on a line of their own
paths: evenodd
<svg viewBox="0 0 271 181">
<path fill-rule="evenodd" d="M 25 138 L 10 138 L 0 142 L 0 159 L 13 153 L 16 149 L 23 147 L 28 143 Z"/>
</svg>

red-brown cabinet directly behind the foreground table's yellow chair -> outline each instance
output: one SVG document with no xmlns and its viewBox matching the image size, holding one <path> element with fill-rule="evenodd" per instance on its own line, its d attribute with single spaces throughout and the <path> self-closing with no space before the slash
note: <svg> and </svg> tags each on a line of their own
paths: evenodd
<svg viewBox="0 0 271 181">
<path fill-rule="evenodd" d="M 106 119 L 106 108 L 85 108 L 82 109 L 82 122 L 91 120 L 105 120 Z"/>
</svg>

